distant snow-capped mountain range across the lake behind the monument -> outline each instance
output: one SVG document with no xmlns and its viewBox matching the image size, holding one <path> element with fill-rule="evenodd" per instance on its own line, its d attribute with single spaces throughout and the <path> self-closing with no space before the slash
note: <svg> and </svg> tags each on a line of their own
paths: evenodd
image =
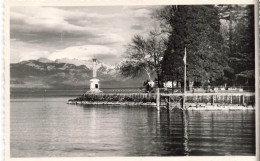
<svg viewBox="0 0 260 161">
<path fill-rule="evenodd" d="M 92 78 L 92 61 L 77 59 L 22 61 L 10 65 L 11 88 L 53 88 L 81 89 L 89 88 Z M 140 87 L 147 79 L 124 78 L 115 66 L 98 62 L 97 77 L 101 88 Z"/>
</svg>

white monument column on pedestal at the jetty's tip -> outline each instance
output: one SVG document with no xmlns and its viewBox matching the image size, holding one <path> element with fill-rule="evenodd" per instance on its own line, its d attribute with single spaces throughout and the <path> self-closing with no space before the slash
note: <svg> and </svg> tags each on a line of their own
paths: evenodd
<svg viewBox="0 0 260 161">
<path fill-rule="evenodd" d="M 99 90 L 99 79 L 97 79 L 97 59 L 93 59 L 93 78 L 90 79 L 90 91 L 88 93 L 101 93 Z"/>
</svg>

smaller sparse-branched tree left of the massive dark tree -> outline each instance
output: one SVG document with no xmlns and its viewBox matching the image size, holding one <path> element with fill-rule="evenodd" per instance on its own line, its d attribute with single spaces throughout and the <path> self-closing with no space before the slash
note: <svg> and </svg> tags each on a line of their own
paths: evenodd
<svg viewBox="0 0 260 161">
<path fill-rule="evenodd" d="M 145 39 L 135 35 L 127 46 L 125 61 L 120 66 L 120 72 L 125 77 L 136 77 L 146 73 L 152 81 L 152 75 L 157 79 L 161 74 L 161 60 L 165 50 L 164 36 L 154 29 Z"/>
</svg>

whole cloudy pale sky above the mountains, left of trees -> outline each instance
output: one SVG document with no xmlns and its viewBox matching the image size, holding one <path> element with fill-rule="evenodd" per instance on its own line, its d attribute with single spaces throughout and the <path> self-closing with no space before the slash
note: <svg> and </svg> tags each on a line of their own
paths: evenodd
<svg viewBox="0 0 260 161">
<path fill-rule="evenodd" d="M 11 63 L 48 58 L 116 65 L 136 34 L 156 25 L 161 6 L 12 7 Z"/>
</svg>

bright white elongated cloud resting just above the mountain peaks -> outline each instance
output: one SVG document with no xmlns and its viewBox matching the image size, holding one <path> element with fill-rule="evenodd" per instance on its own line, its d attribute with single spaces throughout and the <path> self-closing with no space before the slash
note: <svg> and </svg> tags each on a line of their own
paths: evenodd
<svg viewBox="0 0 260 161">
<path fill-rule="evenodd" d="M 48 57 L 50 60 L 56 59 L 79 59 L 79 60 L 91 60 L 96 57 L 99 60 L 106 61 L 108 59 L 114 59 L 117 55 L 117 51 L 102 45 L 84 45 L 73 46 L 63 50 L 55 51 Z"/>
</svg>

